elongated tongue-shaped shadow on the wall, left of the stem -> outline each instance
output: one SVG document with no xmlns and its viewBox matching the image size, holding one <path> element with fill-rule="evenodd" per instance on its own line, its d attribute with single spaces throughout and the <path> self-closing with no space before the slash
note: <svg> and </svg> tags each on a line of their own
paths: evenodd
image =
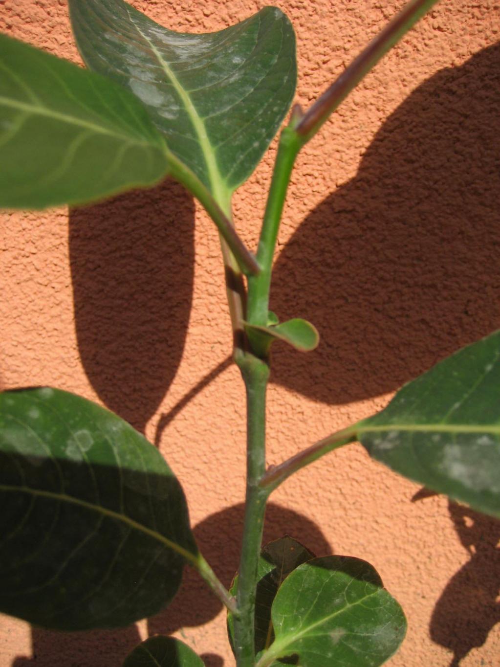
<svg viewBox="0 0 500 667">
<path fill-rule="evenodd" d="M 170 180 L 69 216 L 81 362 L 99 399 L 141 432 L 181 361 L 194 216 L 193 198 Z"/>
</svg>

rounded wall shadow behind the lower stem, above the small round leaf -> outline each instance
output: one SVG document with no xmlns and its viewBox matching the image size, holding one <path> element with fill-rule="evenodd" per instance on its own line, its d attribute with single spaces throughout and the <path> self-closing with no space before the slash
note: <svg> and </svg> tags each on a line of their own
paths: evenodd
<svg viewBox="0 0 500 667">
<path fill-rule="evenodd" d="M 203 556 L 213 567 L 221 582 L 229 588 L 239 562 L 243 503 L 211 514 L 194 528 L 195 538 Z M 309 518 L 275 503 L 267 505 L 263 544 L 289 534 L 315 554 L 331 554 L 332 549 L 323 532 Z M 169 608 L 149 619 L 149 634 L 172 634 L 179 628 L 201 626 L 219 614 L 222 604 L 207 589 L 191 568 L 184 571 L 179 592 Z"/>
</svg>

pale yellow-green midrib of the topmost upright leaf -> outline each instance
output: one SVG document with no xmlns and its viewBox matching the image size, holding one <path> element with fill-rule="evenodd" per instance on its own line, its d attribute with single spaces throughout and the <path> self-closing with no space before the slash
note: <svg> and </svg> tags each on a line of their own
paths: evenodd
<svg viewBox="0 0 500 667">
<path fill-rule="evenodd" d="M 155 47 L 151 39 L 149 39 L 149 37 L 147 37 L 147 35 L 143 33 L 143 31 L 140 29 L 137 23 L 135 23 L 128 7 L 126 7 L 126 10 L 132 25 L 135 27 L 139 35 L 141 35 L 141 37 L 149 45 L 149 48 L 155 55 L 157 61 L 159 62 L 159 65 L 161 66 L 161 68 L 171 81 L 177 95 L 179 95 L 181 101 L 185 106 L 187 115 L 189 116 L 191 123 L 193 123 L 193 127 L 195 129 L 195 133 L 197 134 L 199 145 L 201 147 L 201 152 L 203 153 L 203 157 L 207 165 L 211 190 L 213 192 L 215 199 L 217 200 L 217 203 L 219 203 L 219 205 L 223 207 L 223 209 L 225 210 L 227 202 L 227 188 L 223 187 L 223 177 L 221 175 L 221 172 L 219 171 L 219 167 L 217 166 L 215 153 L 213 151 L 211 141 L 207 135 L 207 129 L 205 127 L 205 123 L 203 123 L 203 120 L 201 119 L 201 116 L 199 115 L 195 105 L 193 104 L 191 97 L 189 96 L 185 88 L 181 85 L 179 79 L 177 79 L 177 76 L 175 75 L 173 69 L 171 69 L 169 64 L 163 59 L 163 57 L 161 57 L 161 53 Z"/>
</svg>

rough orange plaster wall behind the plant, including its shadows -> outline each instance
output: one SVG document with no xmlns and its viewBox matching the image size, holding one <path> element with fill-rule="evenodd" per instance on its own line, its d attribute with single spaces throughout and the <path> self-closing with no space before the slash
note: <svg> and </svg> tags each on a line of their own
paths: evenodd
<svg viewBox="0 0 500 667">
<path fill-rule="evenodd" d="M 221 29 L 251 0 L 135 0 L 181 31 Z M 304 105 L 401 5 L 283 0 Z M 78 62 L 63 0 L 0 0 L 0 29 Z M 317 325 L 309 356 L 277 350 L 269 463 L 374 410 L 403 382 L 500 325 L 500 8 L 443 0 L 299 157 L 279 236 L 273 309 Z M 255 247 L 273 148 L 235 197 Z M 175 183 L 68 213 L 12 213 L 0 231 L 0 383 L 99 400 L 156 441 L 201 549 L 237 565 L 243 389 L 217 234 Z M 271 498 L 267 537 L 372 562 L 409 617 L 393 667 L 500 663 L 500 524 L 370 462 L 357 446 Z M 171 608 L 115 632 L 61 635 L 3 617 L 0 667 L 117 667 L 148 632 L 208 667 L 234 664 L 221 606 L 187 572 Z M 323 667 L 322 665 L 318 667 Z"/>
</svg>

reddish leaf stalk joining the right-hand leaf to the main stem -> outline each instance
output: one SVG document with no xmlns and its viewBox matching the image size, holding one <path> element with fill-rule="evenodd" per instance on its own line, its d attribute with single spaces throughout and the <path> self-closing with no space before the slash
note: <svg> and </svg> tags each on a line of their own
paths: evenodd
<svg viewBox="0 0 500 667">
<path fill-rule="evenodd" d="M 279 464 L 279 466 L 271 466 L 261 479 L 261 487 L 271 493 L 271 491 L 275 490 L 282 482 L 285 482 L 297 470 L 309 466 L 310 463 L 313 463 L 313 461 L 316 461 L 332 450 L 347 445 L 349 442 L 355 442 L 357 440 L 357 426 L 358 424 L 348 426 L 327 438 L 323 438 L 323 440 L 319 440 L 319 442 L 308 447 L 307 450 L 295 454 L 295 456 L 287 459 L 282 464 Z"/>
</svg>

